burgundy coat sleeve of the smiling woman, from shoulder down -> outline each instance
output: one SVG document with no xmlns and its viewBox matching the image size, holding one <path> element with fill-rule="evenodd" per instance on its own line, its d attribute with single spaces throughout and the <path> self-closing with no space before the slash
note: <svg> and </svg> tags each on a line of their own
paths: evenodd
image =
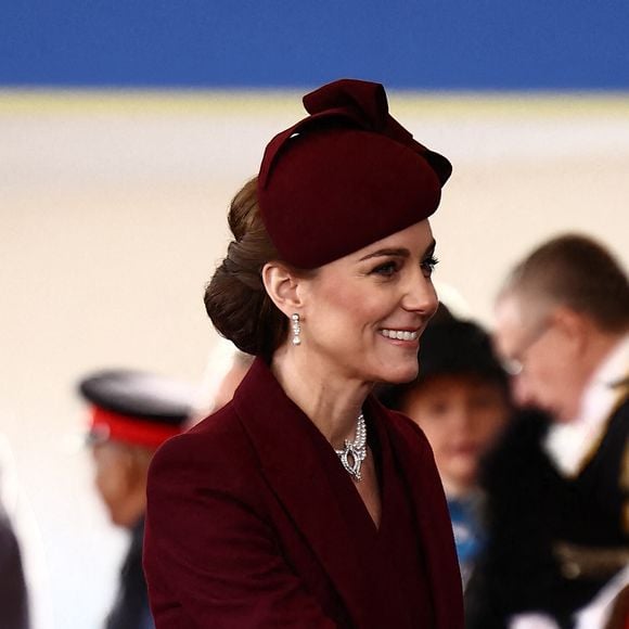
<svg viewBox="0 0 629 629">
<path fill-rule="evenodd" d="M 260 483 L 233 440 L 188 434 L 157 452 L 144 541 L 157 629 L 335 627 L 284 561 Z"/>
</svg>

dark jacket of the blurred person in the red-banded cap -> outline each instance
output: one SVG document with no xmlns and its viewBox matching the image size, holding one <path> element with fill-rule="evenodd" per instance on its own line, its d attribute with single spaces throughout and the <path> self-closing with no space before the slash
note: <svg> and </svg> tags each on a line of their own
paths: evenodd
<svg viewBox="0 0 629 629">
<path fill-rule="evenodd" d="M 153 629 L 146 581 L 142 570 L 144 518 L 131 530 L 131 545 L 120 570 L 120 585 L 105 629 Z"/>
</svg>

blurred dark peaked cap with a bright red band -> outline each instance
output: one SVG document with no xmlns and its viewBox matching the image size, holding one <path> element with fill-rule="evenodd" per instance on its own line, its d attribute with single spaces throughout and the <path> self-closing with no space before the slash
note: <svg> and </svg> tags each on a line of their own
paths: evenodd
<svg viewBox="0 0 629 629">
<path fill-rule="evenodd" d="M 128 369 L 84 377 L 81 397 L 90 403 L 88 441 L 120 441 L 157 448 L 182 432 L 194 388 L 187 383 Z"/>
</svg>

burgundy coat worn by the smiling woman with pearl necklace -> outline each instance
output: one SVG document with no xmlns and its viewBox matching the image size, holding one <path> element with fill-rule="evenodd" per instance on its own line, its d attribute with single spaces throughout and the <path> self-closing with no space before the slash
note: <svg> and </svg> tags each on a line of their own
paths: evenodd
<svg viewBox="0 0 629 629">
<path fill-rule="evenodd" d="M 426 438 L 371 397 L 364 410 L 395 463 L 396 474 L 381 479 L 383 521 L 395 544 L 395 513 L 385 511 L 395 488 L 407 497 L 406 530 L 423 557 L 433 626 L 463 629 L 452 529 Z M 390 487 L 394 478 L 400 487 Z M 400 612 L 382 595 L 386 576 L 365 568 L 376 538 L 348 523 L 351 483 L 256 360 L 230 405 L 153 460 L 144 569 L 157 629 L 391 626 Z"/>
</svg>

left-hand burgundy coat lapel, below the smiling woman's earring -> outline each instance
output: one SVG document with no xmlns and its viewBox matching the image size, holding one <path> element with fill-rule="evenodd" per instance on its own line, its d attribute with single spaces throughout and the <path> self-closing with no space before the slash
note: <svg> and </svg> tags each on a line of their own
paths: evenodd
<svg viewBox="0 0 629 629">
<path fill-rule="evenodd" d="M 360 556 L 325 473 L 325 458 L 334 457 L 330 445 L 260 358 L 233 402 L 269 486 L 319 557 L 356 625 L 369 626 L 363 576 L 357 569 Z"/>
</svg>

